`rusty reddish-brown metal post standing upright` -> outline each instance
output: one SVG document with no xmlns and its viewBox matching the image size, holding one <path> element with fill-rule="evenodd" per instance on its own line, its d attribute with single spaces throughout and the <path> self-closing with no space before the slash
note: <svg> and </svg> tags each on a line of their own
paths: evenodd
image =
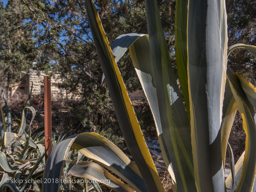
<svg viewBox="0 0 256 192">
<path fill-rule="evenodd" d="M 52 98 L 51 98 L 51 77 L 44 76 L 44 143 L 45 161 L 52 150 Z"/>
</svg>

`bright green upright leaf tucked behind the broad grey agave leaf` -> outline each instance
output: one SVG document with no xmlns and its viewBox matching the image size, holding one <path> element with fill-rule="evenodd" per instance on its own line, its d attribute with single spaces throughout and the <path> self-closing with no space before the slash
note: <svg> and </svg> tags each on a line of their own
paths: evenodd
<svg viewBox="0 0 256 192">
<path fill-rule="evenodd" d="M 188 0 L 177 0 L 175 7 L 175 58 L 182 89 L 182 95 L 190 120 L 189 93 L 188 93 L 188 54 L 187 54 L 187 22 Z"/>
</svg>

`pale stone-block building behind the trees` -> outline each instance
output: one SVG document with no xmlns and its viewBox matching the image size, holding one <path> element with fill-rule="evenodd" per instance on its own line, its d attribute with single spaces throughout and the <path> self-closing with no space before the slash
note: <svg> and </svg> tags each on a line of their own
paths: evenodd
<svg viewBox="0 0 256 192">
<path fill-rule="evenodd" d="M 9 85 L 11 96 L 13 96 L 14 94 L 28 95 L 31 90 L 32 83 L 33 83 L 32 95 L 44 94 L 44 76 L 45 75 L 46 74 L 43 71 L 29 69 L 28 72 L 20 79 L 19 82 Z M 62 82 L 62 80 L 60 80 L 58 76 L 59 75 L 57 74 L 55 75 L 55 77 L 51 77 L 52 97 L 66 98 L 67 97 L 66 90 L 59 89 L 58 87 L 54 86 L 54 84 Z"/>
</svg>

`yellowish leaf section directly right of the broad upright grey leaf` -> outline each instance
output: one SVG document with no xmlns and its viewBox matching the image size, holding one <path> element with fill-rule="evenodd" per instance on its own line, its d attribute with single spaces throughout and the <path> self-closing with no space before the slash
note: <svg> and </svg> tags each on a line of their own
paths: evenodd
<svg viewBox="0 0 256 192">
<path fill-rule="evenodd" d="M 233 126 L 233 122 L 236 116 L 237 104 L 233 96 L 229 82 L 226 81 L 225 94 L 222 108 L 222 121 L 221 121 L 221 153 L 223 166 L 225 165 L 226 150 L 228 144 L 228 138 Z"/>
</svg>

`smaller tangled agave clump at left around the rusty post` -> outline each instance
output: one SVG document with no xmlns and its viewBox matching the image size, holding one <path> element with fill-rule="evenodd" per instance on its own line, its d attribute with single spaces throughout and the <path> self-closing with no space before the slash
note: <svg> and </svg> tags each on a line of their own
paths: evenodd
<svg viewBox="0 0 256 192">
<path fill-rule="evenodd" d="M 31 191 L 32 189 L 33 191 L 41 191 L 42 183 L 33 181 L 35 179 L 40 180 L 44 173 L 44 126 L 38 127 L 33 132 L 31 130 L 32 121 L 36 115 L 35 109 L 30 106 L 31 92 L 22 111 L 22 118 L 13 120 L 11 119 L 3 88 L 2 92 L 7 122 L 5 122 L 4 112 L 0 107 L 0 191 L 22 192 Z M 28 111 L 32 114 L 30 120 L 27 118 Z M 29 121 L 28 126 L 27 121 Z M 19 128 L 14 130 L 12 122 L 15 122 Z M 28 132 L 26 132 L 26 126 Z M 62 133 L 56 133 L 54 128 L 53 135 L 53 144 L 63 139 Z"/>
</svg>

